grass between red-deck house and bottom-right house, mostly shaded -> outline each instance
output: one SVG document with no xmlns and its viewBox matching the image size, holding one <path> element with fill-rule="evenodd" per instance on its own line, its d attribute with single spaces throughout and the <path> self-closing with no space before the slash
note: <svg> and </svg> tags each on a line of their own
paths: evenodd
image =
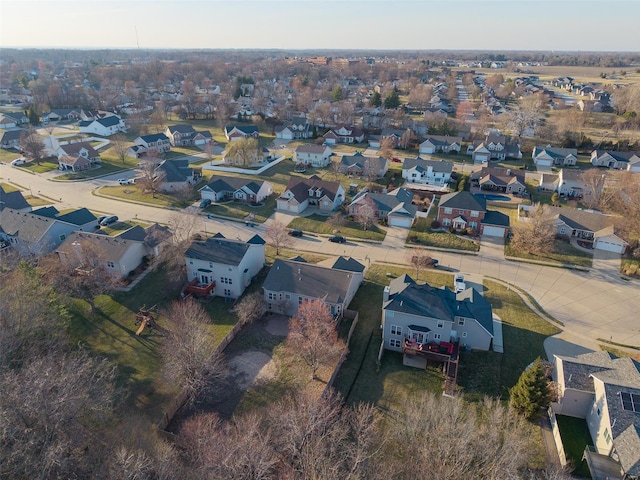
<svg viewBox="0 0 640 480">
<path fill-rule="evenodd" d="M 485 298 L 502 319 L 504 353 L 463 352 L 458 384 L 469 400 L 485 395 L 507 399 L 527 365 L 537 357 L 546 358 L 544 339 L 560 330 L 533 313 L 507 287 L 491 280 L 485 280 L 484 287 Z"/>
</svg>

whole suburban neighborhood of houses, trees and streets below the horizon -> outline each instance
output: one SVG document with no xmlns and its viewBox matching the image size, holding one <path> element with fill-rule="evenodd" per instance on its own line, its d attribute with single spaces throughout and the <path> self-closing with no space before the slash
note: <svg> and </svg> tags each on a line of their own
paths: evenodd
<svg viewBox="0 0 640 480">
<path fill-rule="evenodd" d="M 640 478 L 640 57 L 145 48 L 0 55 L 0 477 Z"/>
</svg>

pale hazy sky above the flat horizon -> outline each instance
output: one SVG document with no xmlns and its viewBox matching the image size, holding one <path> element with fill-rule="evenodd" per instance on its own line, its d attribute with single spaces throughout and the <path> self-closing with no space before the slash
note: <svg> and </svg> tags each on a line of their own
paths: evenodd
<svg viewBox="0 0 640 480">
<path fill-rule="evenodd" d="M 640 0 L 0 0 L 0 48 L 640 51 Z"/>
</svg>

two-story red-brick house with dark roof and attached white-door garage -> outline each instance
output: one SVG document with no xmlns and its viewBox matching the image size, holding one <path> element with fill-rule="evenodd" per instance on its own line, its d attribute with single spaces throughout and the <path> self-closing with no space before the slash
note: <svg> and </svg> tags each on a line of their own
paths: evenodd
<svg viewBox="0 0 640 480">
<path fill-rule="evenodd" d="M 506 237 L 509 232 L 509 216 L 495 210 L 487 210 L 484 197 L 470 192 L 448 193 L 440 197 L 438 222 L 443 227 L 456 230 L 470 228 L 480 235 Z"/>
</svg>

